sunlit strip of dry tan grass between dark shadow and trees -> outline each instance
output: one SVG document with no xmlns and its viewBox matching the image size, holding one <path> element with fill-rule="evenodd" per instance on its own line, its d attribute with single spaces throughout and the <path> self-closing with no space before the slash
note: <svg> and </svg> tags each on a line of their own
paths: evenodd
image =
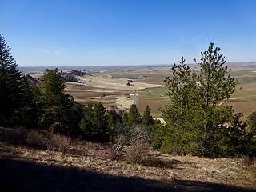
<svg viewBox="0 0 256 192">
<path fill-rule="evenodd" d="M 142 147 L 142 150 L 144 149 Z M 146 151 L 148 157 L 146 163 L 134 164 L 110 160 L 106 156 L 107 150 L 108 146 L 101 144 L 75 141 L 70 144 L 70 152 L 73 152 L 63 154 L 53 150 L 37 150 L 0 142 L 0 158 L 15 158 L 45 165 L 72 166 L 115 176 L 167 182 L 181 179 L 256 189 L 256 166 L 254 164 L 244 166 L 242 159 L 174 156 L 158 154 L 150 150 Z M 135 157 L 138 158 L 138 155 Z"/>
</svg>

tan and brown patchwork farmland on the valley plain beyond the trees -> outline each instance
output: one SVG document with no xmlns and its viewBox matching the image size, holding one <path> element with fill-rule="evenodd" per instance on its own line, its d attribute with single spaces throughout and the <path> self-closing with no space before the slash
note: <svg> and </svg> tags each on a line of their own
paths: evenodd
<svg viewBox="0 0 256 192">
<path fill-rule="evenodd" d="M 192 66 L 198 71 L 198 67 Z M 230 103 L 235 112 L 242 112 L 244 119 L 256 110 L 256 63 L 242 62 L 230 64 L 231 75 L 239 78 L 239 83 Z M 60 68 L 68 71 L 72 67 Z M 79 82 L 66 82 L 66 92 L 77 102 L 93 104 L 102 102 L 106 107 L 127 110 L 134 103 L 134 90 L 138 90 L 138 110 L 142 113 L 150 106 L 155 118 L 161 117 L 159 108 L 170 102 L 166 96 L 164 79 L 171 76 L 170 66 L 98 66 L 76 67 L 86 70 L 89 75 L 77 76 Z M 26 69 L 26 73 L 38 78 L 40 71 Z"/>
</svg>

